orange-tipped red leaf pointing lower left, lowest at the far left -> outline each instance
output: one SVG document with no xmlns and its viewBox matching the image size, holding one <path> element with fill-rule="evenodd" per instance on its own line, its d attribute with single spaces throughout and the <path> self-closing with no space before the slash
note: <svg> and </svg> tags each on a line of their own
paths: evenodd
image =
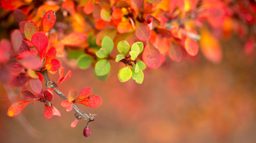
<svg viewBox="0 0 256 143">
<path fill-rule="evenodd" d="M 37 100 L 34 100 L 37 101 Z M 31 102 L 34 101 L 17 101 L 8 108 L 7 115 L 10 117 L 17 116 Z"/>
</svg>

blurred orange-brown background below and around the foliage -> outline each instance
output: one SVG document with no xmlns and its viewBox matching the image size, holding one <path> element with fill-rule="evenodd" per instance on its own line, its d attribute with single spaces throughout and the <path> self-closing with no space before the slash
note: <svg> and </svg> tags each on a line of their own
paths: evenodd
<svg viewBox="0 0 256 143">
<path fill-rule="evenodd" d="M 210 63 L 201 52 L 196 57 L 183 52 L 179 63 L 167 57 L 158 69 L 144 71 L 142 85 L 134 80 L 119 82 L 121 65 L 115 61 L 109 79 L 101 82 L 93 76 L 92 67 L 80 70 L 72 61 L 62 60 L 66 71 L 73 72 L 59 86 L 64 94 L 71 88 L 80 91 L 91 86 L 92 94 L 103 99 L 98 108 L 77 105 L 97 114 L 89 123 L 92 135 L 83 136 L 86 120 L 70 127 L 74 111 L 67 113 L 58 95 L 53 105 L 61 117 L 45 119 L 40 102 L 29 104 L 19 116 L 8 117 L 11 102 L 1 85 L 0 142 L 256 142 L 255 51 L 245 56 L 243 45 L 236 36 L 221 41 L 219 64 Z M 53 81 L 57 76 L 50 75 Z"/>
</svg>

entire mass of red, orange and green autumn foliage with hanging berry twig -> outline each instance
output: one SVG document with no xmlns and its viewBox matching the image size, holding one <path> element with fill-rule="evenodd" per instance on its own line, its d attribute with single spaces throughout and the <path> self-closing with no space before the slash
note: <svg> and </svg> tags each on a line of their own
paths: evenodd
<svg viewBox="0 0 256 143">
<path fill-rule="evenodd" d="M 46 119 L 61 116 L 52 101 L 60 95 L 58 86 L 71 77 L 71 70 L 65 74 L 62 67 L 64 58 L 76 60 L 79 69 L 94 67 L 92 74 L 102 81 L 109 77 L 114 60 L 122 64 L 116 75 L 120 82 L 133 79 L 141 84 L 143 70 L 158 69 L 167 58 L 179 62 L 200 52 L 210 62 L 220 63 L 219 39 L 233 33 L 245 41 L 245 55 L 255 47 L 256 31 L 251 30 L 256 24 L 255 1 L 2 0 L 1 7 L 19 26 L 10 30 L 10 41 L 0 42 L 0 80 L 18 87 L 24 99 L 10 106 L 10 117 L 35 101 L 43 102 Z M 59 74 L 58 80 L 51 82 L 48 73 Z M 76 113 L 78 103 L 101 105 L 101 97 L 91 95 L 91 87 L 83 88 L 78 97 L 73 88 L 67 97 L 61 95 L 66 111 Z M 76 115 L 71 127 L 85 119 Z M 86 137 L 91 135 L 88 130 L 86 125 Z"/>
</svg>

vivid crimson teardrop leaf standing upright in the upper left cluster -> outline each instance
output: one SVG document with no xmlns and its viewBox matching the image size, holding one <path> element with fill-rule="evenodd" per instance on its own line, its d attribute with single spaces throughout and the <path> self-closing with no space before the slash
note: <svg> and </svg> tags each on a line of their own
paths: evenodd
<svg viewBox="0 0 256 143">
<path fill-rule="evenodd" d="M 37 32 L 32 36 L 31 42 L 37 48 L 40 58 L 43 59 L 49 42 L 47 36 L 43 32 Z"/>
</svg>

